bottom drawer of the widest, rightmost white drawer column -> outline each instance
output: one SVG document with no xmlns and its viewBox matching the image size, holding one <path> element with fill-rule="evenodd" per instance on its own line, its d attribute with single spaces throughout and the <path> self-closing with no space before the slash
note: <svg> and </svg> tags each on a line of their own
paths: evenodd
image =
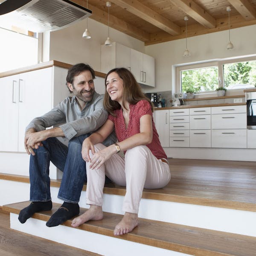
<svg viewBox="0 0 256 256">
<path fill-rule="evenodd" d="M 247 129 L 212 130 L 212 148 L 246 148 Z"/>
</svg>

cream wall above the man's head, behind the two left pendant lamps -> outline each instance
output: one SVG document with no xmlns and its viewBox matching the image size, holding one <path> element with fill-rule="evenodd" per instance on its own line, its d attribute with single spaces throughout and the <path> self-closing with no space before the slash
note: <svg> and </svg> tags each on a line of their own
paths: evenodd
<svg viewBox="0 0 256 256">
<path fill-rule="evenodd" d="M 82 38 L 86 29 L 86 19 L 73 26 L 50 33 L 49 60 L 62 61 L 69 64 L 85 62 L 94 70 L 100 71 L 100 46 L 107 39 L 108 26 L 95 20 L 88 19 L 88 29 L 92 35 L 90 39 Z M 144 43 L 140 40 L 125 35 L 116 29 L 110 28 L 111 41 L 116 41 L 127 47 L 144 52 Z"/>
</svg>

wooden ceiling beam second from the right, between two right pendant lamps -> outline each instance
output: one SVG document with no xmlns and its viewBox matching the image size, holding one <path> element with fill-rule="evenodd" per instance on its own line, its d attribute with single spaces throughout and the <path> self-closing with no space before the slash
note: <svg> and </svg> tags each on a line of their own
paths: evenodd
<svg viewBox="0 0 256 256">
<path fill-rule="evenodd" d="M 216 20 L 209 15 L 204 9 L 192 0 L 170 0 L 175 6 L 186 12 L 190 17 L 201 25 L 213 29 L 216 26 Z"/>
</svg>

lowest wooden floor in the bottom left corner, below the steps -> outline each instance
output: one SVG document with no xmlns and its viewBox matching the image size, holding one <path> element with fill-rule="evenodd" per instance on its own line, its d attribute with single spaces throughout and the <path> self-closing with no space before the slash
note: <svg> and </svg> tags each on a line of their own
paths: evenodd
<svg viewBox="0 0 256 256">
<path fill-rule="evenodd" d="M 81 249 L 11 230 L 9 212 L 0 210 L 0 256 L 96 256 Z"/>
</svg>

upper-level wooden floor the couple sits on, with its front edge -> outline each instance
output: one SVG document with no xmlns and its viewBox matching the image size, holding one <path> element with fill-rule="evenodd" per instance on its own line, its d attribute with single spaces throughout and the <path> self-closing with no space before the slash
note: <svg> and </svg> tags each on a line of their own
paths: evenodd
<svg viewBox="0 0 256 256">
<path fill-rule="evenodd" d="M 256 162 L 169 159 L 171 181 L 163 189 L 144 189 L 143 198 L 256 212 Z M 0 174 L 0 179 L 29 183 L 29 178 Z M 51 180 L 59 187 L 61 180 Z M 86 190 L 84 185 L 83 190 Z M 125 195 L 108 183 L 105 193 Z"/>
</svg>

